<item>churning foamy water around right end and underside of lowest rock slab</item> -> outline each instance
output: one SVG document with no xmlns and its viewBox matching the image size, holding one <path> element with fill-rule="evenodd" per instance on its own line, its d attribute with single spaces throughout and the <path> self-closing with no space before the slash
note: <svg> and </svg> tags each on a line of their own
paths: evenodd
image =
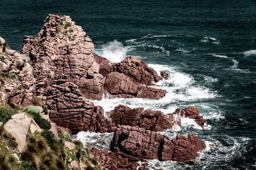
<svg viewBox="0 0 256 170">
<path fill-rule="evenodd" d="M 148 168 L 155 169 L 212 169 L 216 163 L 225 166 L 225 169 L 234 169 L 230 167 L 230 160 L 234 157 L 241 157 L 244 147 L 250 142 L 249 138 L 232 138 L 231 136 L 223 136 L 223 140 L 218 141 L 211 136 L 207 136 L 208 140 L 205 141 L 206 148 L 200 152 L 199 157 L 193 160 L 193 164 L 186 164 L 185 162 L 175 161 L 159 161 L 149 160 L 147 162 Z M 212 148 L 212 146 L 214 146 Z M 139 162 L 140 165 L 143 162 Z"/>
</svg>

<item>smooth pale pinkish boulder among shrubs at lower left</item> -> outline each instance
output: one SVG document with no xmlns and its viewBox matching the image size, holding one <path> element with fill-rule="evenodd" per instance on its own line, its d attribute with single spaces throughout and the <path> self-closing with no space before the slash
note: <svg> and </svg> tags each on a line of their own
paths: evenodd
<svg viewBox="0 0 256 170">
<path fill-rule="evenodd" d="M 19 113 L 13 115 L 12 119 L 8 120 L 4 125 L 4 129 L 15 138 L 20 152 L 24 152 L 25 150 L 30 124 L 31 118 L 24 113 Z"/>
</svg>

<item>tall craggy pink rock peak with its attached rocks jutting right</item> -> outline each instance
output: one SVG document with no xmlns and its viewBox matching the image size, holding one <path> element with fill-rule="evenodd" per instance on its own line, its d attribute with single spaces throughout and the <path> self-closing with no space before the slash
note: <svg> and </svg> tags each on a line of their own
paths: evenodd
<svg viewBox="0 0 256 170">
<path fill-rule="evenodd" d="M 159 99 L 166 94 L 143 86 L 161 78 L 142 60 L 127 57 L 114 68 L 93 50 L 92 40 L 68 16 L 49 15 L 35 37 L 24 37 L 21 52 L 33 61 L 34 95 L 56 124 L 75 133 L 109 131 L 111 121 L 88 99 L 103 94 Z"/>
</svg>

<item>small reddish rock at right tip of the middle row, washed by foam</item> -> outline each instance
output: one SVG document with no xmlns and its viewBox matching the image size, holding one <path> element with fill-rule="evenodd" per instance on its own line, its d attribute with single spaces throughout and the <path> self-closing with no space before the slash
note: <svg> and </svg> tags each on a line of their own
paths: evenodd
<svg viewBox="0 0 256 170">
<path fill-rule="evenodd" d="M 188 108 L 184 108 L 182 110 L 177 109 L 173 112 L 173 114 L 180 115 L 180 117 L 193 118 L 198 125 L 204 127 L 205 119 L 200 115 L 198 108 L 195 106 L 189 106 Z"/>
</svg>

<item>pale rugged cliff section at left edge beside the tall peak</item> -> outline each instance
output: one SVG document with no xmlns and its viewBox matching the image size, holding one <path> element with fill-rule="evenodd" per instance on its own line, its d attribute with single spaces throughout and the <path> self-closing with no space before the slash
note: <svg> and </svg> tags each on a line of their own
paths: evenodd
<svg viewBox="0 0 256 170">
<path fill-rule="evenodd" d="M 0 101 L 13 107 L 33 103 L 33 68 L 29 57 L 10 49 L 1 38 L 0 46 Z"/>
</svg>

